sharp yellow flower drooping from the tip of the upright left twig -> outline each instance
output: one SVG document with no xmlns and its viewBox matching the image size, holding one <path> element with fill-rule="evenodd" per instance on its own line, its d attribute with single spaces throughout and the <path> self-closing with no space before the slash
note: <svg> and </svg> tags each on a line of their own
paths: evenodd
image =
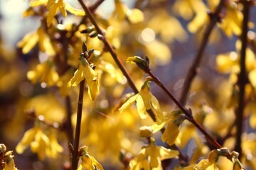
<svg viewBox="0 0 256 170">
<path fill-rule="evenodd" d="M 75 71 L 74 77 L 68 81 L 68 88 L 78 86 L 83 79 L 87 81 L 88 94 L 91 100 L 94 101 L 100 89 L 99 74 L 90 67 L 85 57 L 80 56 L 78 70 Z"/>
</svg>

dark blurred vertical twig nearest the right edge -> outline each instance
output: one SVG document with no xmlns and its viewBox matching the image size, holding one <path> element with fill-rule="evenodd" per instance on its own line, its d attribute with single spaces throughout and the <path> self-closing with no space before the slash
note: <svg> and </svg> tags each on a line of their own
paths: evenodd
<svg viewBox="0 0 256 170">
<path fill-rule="evenodd" d="M 243 0 L 242 1 L 243 9 L 243 20 L 242 20 L 242 48 L 240 53 L 240 74 L 238 79 L 239 86 L 239 101 L 238 101 L 238 112 L 237 112 L 237 133 L 236 133 L 236 143 L 235 143 L 235 151 L 240 153 L 239 157 L 242 156 L 242 148 L 241 148 L 241 136 L 242 136 L 242 125 L 243 125 L 243 110 L 245 108 L 245 84 L 246 84 L 246 67 L 245 67 L 245 56 L 246 56 L 246 47 L 247 47 L 247 31 L 248 31 L 248 21 L 249 21 L 249 8 L 250 1 Z"/>
</svg>

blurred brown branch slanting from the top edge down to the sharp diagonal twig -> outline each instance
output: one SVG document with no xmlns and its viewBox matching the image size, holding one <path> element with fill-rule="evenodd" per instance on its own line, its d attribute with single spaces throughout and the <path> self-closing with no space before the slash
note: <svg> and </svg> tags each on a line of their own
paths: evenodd
<svg viewBox="0 0 256 170">
<path fill-rule="evenodd" d="M 186 79 L 183 85 L 183 91 L 181 93 L 180 103 L 182 105 L 186 105 L 186 100 L 188 97 L 189 89 L 191 88 L 192 81 L 194 77 L 196 77 L 196 74 L 198 74 L 199 65 L 201 63 L 201 60 L 203 58 L 203 52 L 206 48 L 208 39 L 210 37 L 210 33 L 212 32 L 215 24 L 220 20 L 220 11 L 222 10 L 224 6 L 225 0 L 221 0 L 220 4 L 218 4 L 218 7 L 215 10 L 215 13 L 210 13 L 210 23 L 206 27 L 206 30 L 203 34 L 203 39 L 201 41 L 201 44 L 199 46 L 199 49 L 196 53 L 195 60 L 193 60 L 193 64 L 191 65 L 190 69 L 188 70 L 188 74 L 186 75 Z"/>
</svg>

